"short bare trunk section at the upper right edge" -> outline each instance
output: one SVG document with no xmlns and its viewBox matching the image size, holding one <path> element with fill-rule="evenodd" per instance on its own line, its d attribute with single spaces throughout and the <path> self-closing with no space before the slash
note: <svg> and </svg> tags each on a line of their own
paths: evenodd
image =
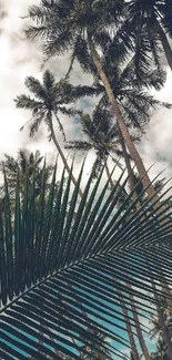
<svg viewBox="0 0 172 360">
<path fill-rule="evenodd" d="M 165 53 L 165 56 L 166 56 L 166 60 L 168 60 L 168 63 L 169 63 L 169 66 L 171 68 L 172 70 L 172 49 L 170 47 L 170 43 L 168 41 L 168 38 L 166 38 L 166 34 L 164 32 L 164 30 L 162 29 L 160 22 L 155 19 L 155 22 L 154 22 L 154 27 L 153 27 L 153 30 L 159 34 L 160 37 L 160 41 L 161 41 L 161 44 L 162 44 L 162 48 L 164 50 L 164 53 Z"/>
</svg>

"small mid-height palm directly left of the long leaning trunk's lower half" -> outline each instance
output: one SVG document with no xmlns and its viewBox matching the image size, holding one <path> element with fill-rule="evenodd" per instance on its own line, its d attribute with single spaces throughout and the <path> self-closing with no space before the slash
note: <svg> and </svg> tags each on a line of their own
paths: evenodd
<svg viewBox="0 0 172 360">
<path fill-rule="evenodd" d="M 89 151 L 94 150 L 97 154 L 97 158 L 92 166 L 92 174 L 94 177 L 98 177 L 103 166 L 107 172 L 107 176 L 110 181 L 110 187 L 113 188 L 114 182 L 111 178 L 110 169 L 108 166 L 108 158 L 110 157 L 121 169 L 122 164 L 120 163 L 120 157 L 124 157 L 127 168 L 129 168 L 132 173 L 132 168 L 130 165 L 130 155 L 127 153 L 127 150 L 123 147 L 120 150 L 120 140 L 118 126 L 114 123 L 113 116 L 105 109 L 101 110 L 100 106 L 97 106 L 92 113 L 92 117 L 90 115 L 81 116 L 81 125 L 82 132 L 87 136 L 87 141 L 75 140 L 67 142 L 65 148 L 75 151 Z M 138 136 L 139 137 L 139 136 Z M 138 141 L 136 135 L 134 134 L 133 141 Z M 114 157 L 118 156 L 118 158 Z M 129 164 L 128 164 L 129 162 Z M 133 177 L 133 173 L 132 173 Z M 131 185 L 131 176 L 129 176 L 129 183 Z M 135 185 L 135 184 L 134 184 Z M 134 185 L 131 187 L 134 187 Z M 121 193 L 120 202 L 121 204 L 124 202 L 127 197 L 127 191 L 123 189 Z M 118 204 L 119 206 L 120 204 Z M 127 204 L 128 205 L 128 204 Z"/>
</svg>

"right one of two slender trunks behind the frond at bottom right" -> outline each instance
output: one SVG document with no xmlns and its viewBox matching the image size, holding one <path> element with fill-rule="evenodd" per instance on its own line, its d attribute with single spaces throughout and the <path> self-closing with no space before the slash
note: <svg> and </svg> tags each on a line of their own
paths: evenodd
<svg viewBox="0 0 172 360">
<path fill-rule="evenodd" d="M 128 287 L 131 288 L 131 286 L 128 285 Z M 140 342 L 140 347 L 142 349 L 142 352 L 143 352 L 143 356 L 145 358 L 145 360 L 151 360 L 151 356 L 148 351 L 148 348 L 146 348 L 146 344 L 145 344 L 145 341 L 144 341 L 144 338 L 143 338 L 143 335 L 142 335 L 142 330 L 141 330 L 141 327 L 140 327 L 140 322 L 139 322 L 139 317 L 138 317 L 138 313 L 136 313 L 136 307 L 135 307 L 135 301 L 134 301 L 134 298 L 132 295 L 130 295 L 130 301 L 131 301 L 131 310 L 132 310 L 132 313 L 133 313 L 133 319 L 134 319 L 134 322 L 135 322 L 135 329 L 136 329 L 136 335 L 138 335 L 138 339 L 139 339 L 139 342 Z"/>
</svg>

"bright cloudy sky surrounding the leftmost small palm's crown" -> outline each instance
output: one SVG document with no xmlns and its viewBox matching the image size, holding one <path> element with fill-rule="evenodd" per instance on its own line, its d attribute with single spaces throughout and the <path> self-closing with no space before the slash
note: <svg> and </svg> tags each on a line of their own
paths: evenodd
<svg viewBox="0 0 172 360">
<path fill-rule="evenodd" d="M 30 113 L 22 110 L 17 110 L 13 99 L 26 93 L 24 79 L 28 75 L 33 75 L 41 80 L 42 70 L 42 53 L 40 50 L 40 43 L 33 43 L 26 40 L 23 29 L 27 20 L 22 20 L 21 17 L 27 14 L 28 4 L 31 4 L 29 0 L 6 0 L 4 4 L 0 6 L 0 160 L 3 158 L 3 153 L 16 155 L 19 147 L 28 147 L 34 151 L 39 148 L 41 153 L 47 154 L 48 161 L 54 161 L 55 148 L 52 143 L 47 140 L 47 130 L 41 126 L 39 133 L 34 138 L 29 137 L 29 131 L 27 126 L 23 132 L 20 132 L 20 127 L 30 119 Z M 67 69 L 68 61 L 63 56 L 52 60 L 45 65 L 51 69 L 57 79 L 60 79 Z M 84 75 L 77 68 L 75 83 L 90 83 L 91 78 Z M 67 138 L 72 140 L 78 132 L 79 125 L 73 124 L 72 119 L 62 119 Z M 62 137 L 57 132 L 58 141 L 62 145 Z M 68 155 L 68 153 L 65 152 Z M 78 163 L 81 157 L 78 158 Z M 90 165 L 93 162 L 93 155 L 88 157 L 85 172 L 89 173 Z"/>
</svg>

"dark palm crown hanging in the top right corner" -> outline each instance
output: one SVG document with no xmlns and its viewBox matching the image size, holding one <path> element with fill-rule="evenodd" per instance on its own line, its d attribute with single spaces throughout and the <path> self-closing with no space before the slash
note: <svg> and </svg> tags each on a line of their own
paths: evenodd
<svg viewBox="0 0 172 360">
<path fill-rule="evenodd" d="M 163 50 L 168 64 L 172 70 L 172 49 L 168 37 L 172 37 L 172 3 L 170 0 L 130 0 L 127 7 L 128 34 L 133 34 L 136 51 L 136 68 L 144 59 L 149 62 L 153 56 L 156 65 L 160 64 L 160 54 Z M 123 24 L 123 29 L 125 28 Z M 148 52 L 149 51 L 149 52 Z M 149 55 L 151 54 L 151 56 Z M 146 56 L 148 55 L 148 56 Z"/>
</svg>

